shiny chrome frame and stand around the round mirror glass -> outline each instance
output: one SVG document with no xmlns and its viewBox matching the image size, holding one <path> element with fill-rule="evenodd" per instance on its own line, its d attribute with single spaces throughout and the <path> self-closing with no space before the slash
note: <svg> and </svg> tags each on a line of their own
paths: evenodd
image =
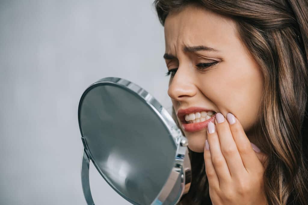
<svg viewBox="0 0 308 205">
<path fill-rule="evenodd" d="M 79 106 L 78 106 L 78 123 L 79 123 L 79 130 L 81 133 L 81 140 L 83 143 L 83 155 L 82 155 L 82 162 L 81 162 L 81 182 L 83 188 L 83 194 L 86 199 L 88 205 L 94 205 L 93 198 L 91 195 L 90 190 L 90 182 L 89 182 L 89 165 L 90 160 L 94 164 L 97 171 L 99 171 L 100 175 L 105 179 L 105 181 L 124 199 L 129 201 L 134 205 L 145 205 L 145 204 L 138 204 L 131 199 L 128 199 L 125 195 L 122 195 L 103 175 L 103 173 L 98 168 L 97 164 L 93 160 L 91 156 L 91 151 L 87 146 L 87 142 L 83 136 L 83 131 L 81 127 L 81 120 L 80 120 L 80 113 L 81 107 L 86 94 L 93 88 L 102 85 L 114 85 L 120 86 L 122 88 L 127 89 L 136 97 L 139 97 L 147 103 L 152 110 L 160 117 L 160 119 L 164 122 L 164 125 L 168 129 L 170 136 L 172 136 L 174 145 L 176 146 L 176 153 L 175 158 L 173 161 L 173 167 L 171 173 L 162 187 L 161 191 L 157 195 L 156 199 L 151 203 L 151 205 L 175 205 L 181 199 L 181 196 L 186 194 L 189 191 L 191 185 L 191 165 L 190 159 L 188 156 L 188 141 L 182 135 L 180 128 L 176 125 L 170 114 L 167 112 L 163 106 L 156 101 L 152 95 L 150 95 L 147 91 L 145 91 L 140 86 L 125 80 L 123 78 L 118 77 L 106 77 L 102 78 L 99 81 L 96 81 L 92 85 L 90 85 L 82 94 Z M 168 186 L 166 186 L 168 185 Z"/>
</svg>

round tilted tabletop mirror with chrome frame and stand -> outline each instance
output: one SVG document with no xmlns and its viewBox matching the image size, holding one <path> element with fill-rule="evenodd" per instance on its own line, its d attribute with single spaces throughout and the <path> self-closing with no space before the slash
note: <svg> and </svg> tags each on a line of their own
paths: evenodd
<svg viewBox="0 0 308 205">
<path fill-rule="evenodd" d="M 117 77 L 95 82 L 79 101 L 78 121 L 87 204 L 94 204 L 90 161 L 132 204 L 174 205 L 188 192 L 188 142 L 170 114 L 140 86 Z"/>
</svg>

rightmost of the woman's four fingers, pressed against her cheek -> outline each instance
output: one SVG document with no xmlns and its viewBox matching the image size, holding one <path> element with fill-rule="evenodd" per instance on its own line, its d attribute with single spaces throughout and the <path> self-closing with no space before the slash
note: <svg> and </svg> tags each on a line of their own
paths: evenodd
<svg viewBox="0 0 308 205">
<path fill-rule="evenodd" d="M 253 150 L 242 125 L 232 113 L 227 114 L 227 120 L 230 124 L 230 130 L 234 142 L 237 145 L 238 152 L 241 155 L 244 167 L 247 171 L 260 171 L 255 169 L 260 168 L 260 166 L 263 167 L 263 165 Z"/>
</svg>

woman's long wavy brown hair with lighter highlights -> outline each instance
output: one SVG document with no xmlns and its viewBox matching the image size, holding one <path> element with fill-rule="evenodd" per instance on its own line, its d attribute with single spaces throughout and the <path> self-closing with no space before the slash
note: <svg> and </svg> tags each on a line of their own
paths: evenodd
<svg viewBox="0 0 308 205">
<path fill-rule="evenodd" d="M 188 4 L 234 20 L 265 77 L 254 132 L 268 155 L 263 177 L 268 204 L 307 204 L 307 0 L 155 0 L 153 4 L 163 26 L 170 12 Z M 180 126 L 174 108 L 172 117 Z M 192 183 L 178 204 L 211 204 L 203 153 L 188 150 Z"/>
</svg>

